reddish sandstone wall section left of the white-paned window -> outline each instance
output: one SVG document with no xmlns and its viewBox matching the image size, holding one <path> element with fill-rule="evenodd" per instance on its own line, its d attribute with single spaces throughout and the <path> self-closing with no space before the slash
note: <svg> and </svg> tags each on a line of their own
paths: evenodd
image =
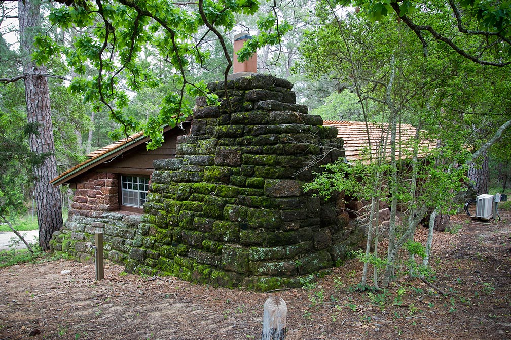
<svg viewBox="0 0 511 340">
<path fill-rule="evenodd" d="M 92 172 L 76 184 L 71 207 L 77 211 L 119 210 L 119 181 L 111 172 Z"/>
</svg>

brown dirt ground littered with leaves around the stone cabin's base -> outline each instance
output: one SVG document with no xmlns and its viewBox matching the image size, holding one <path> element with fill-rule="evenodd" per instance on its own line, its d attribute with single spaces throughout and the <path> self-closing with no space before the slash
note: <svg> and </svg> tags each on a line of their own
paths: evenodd
<svg viewBox="0 0 511 340">
<path fill-rule="evenodd" d="M 263 303 L 287 302 L 287 339 L 511 339 L 511 215 L 452 218 L 435 232 L 433 282 L 402 279 L 387 292 L 353 292 L 350 260 L 316 286 L 273 293 L 218 289 L 172 277 L 127 275 L 107 264 L 47 261 L 0 269 L 0 340 L 258 339 Z M 426 240 L 426 229 L 417 231 Z M 65 271 L 71 271 L 66 274 Z"/>
</svg>

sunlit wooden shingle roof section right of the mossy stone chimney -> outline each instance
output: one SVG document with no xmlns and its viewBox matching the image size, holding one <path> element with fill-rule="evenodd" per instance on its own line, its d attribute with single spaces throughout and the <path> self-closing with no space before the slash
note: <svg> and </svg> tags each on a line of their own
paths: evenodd
<svg viewBox="0 0 511 340">
<path fill-rule="evenodd" d="M 337 127 L 337 137 L 344 140 L 346 162 L 362 160 L 369 163 L 370 158 L 376 158 L 379 152 L 385 150 L 386 157 L 390 155 L 390 136 L 387 138 L 388 124 L 373 124 L 356 121 L 323 121 L 324 126 Z M 396 135 L 396 158 L 408 158 L 415 140 L 415 127 L 409 124 L 399 124 Z M 432 149 L 435 143 L 427 139 L 419 142 L 419 147 Z"/>
</svg>

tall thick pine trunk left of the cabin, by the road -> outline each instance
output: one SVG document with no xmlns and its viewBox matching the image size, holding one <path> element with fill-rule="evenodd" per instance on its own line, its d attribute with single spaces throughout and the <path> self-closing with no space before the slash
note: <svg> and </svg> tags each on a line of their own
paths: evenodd
<svg viewBox="0 0 511 340">
<path fill-rule="evenodd" d="M 60 190 L 50 184 L 57 177 L 53 125 L 50 113 L 50 91 L 44 66 L 37 66 L 30 55 L 34 50 L 34 37 L 40 28 L 40 1 L 18 0 L 20 50 L 25 78 L 27 118 L 37 125 L 37 134 L 30 135 L 31 151 L 40 157 L 33 164 L 34 191 L 39 225 L 39 246 L 50 249 L 52 233 L 63 225 Z"/>
</svg>

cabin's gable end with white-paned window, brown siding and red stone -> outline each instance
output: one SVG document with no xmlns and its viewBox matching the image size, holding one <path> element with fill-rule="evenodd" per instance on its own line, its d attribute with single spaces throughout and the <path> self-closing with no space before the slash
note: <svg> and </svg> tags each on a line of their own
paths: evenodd
<svg viewBox="0 0 511 340">
<path fill-rule="evenodd" d="M 87 154 L 88 160 L 56 177 L 57 187 L 75 189 L 72 213 L 143 213 L 155 160 L 171 159 L 176 154 L 176 139 L 190 132 L 191 121 L 166 126 L 165 142 L 156 150 L 147 150 L 148 137 L 133 134 Z"/>
</svg>

